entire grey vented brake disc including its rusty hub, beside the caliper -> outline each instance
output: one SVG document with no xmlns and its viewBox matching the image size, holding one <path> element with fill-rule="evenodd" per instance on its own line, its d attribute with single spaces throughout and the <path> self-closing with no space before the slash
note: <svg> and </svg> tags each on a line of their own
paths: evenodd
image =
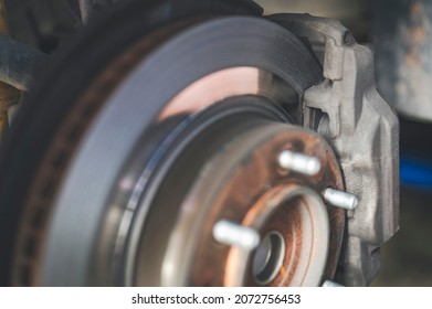
<svg viewBox="0 0 432 309">
<path fill-rule="evenodd" d="M 149 20 L 167 20 L 160 9 L 170 1 L 150 2 Z M 190 2 L 190 8 L 197 4 Z M 124 52 L 115 46 L 117 56 L 109 54 L 104 62 L 89 44 L 86 61 L 101 62 L 97 74 L 70 67 L 63 76 L 53 70 L 45 84 L 55 90 L 36 89 L 22 108 L 0 162 L 9 164 L 0 175 L 0 210 L 10 220 L 2 224 L 2 234 L 17 235 L 0 238 L 2 252 L 11 253 L 1 257 L 3 283 L 317 285 L 323 274 L 333 277 L 344 212 L 331 209 L 327 214 L 319 193 L 326 187 L 343 189 L 340 171 L 324 140 L 281 125 L 301 118 L 298 99 L 322 81 L 319 64 L 297 38 L 272 22 L 211 17 L 247 9 L 198 2 L 190 13 L 185 13 L 186 6 L 172 21 L 134 34 Z M 143 20 L 136 8 L 143 4 L 130 3 L 119 12 Z M 176 10 L 170 12 L 176 15 Z M 101 22 L 78 42 L 91 42 L 103 28 Z M 112 35 L 125 33 L 116 30 Z M 104 40 L 107 46 L 115 42 Z M 87 84 L 78 79 L 81 87 L 72 87 L 62 117 L 50 118 L 46 111 L 59 109 L 71 76 L 82 76 Z M 35 102 L 44 102 L 45 113 L 29 125 L 24 119 Z M 40 143 L 33 141 L 38 136 Z M 317 156 L 323 169 L 313 178 L 281 173 L 274 167 L 281 147 Z M 218 181 L 206 179 L 206 167 Z M 244 182 L 256 169 L 256 183 Z M 231 209 L 235 188 L 249 200 Z M 13 211 L 12 204 L 18 205 Z M 196 222 L 186 232 L 185 212 Z M 287 219 L 277 223 L 280 212 Z M 257 228 L 260 247 L 275 243 L 281 254 L 273 249 L 273 255 L 280 262 L 272 266 L 267 258 L 255 262 L 235 248 L 218 247 L 209 228 L 219 217 Z M 293 230 L 291 221 L 301 228 Z M 299 245 L 293 231 L 303 235 L 304 251 L 293 248 Z M 189 233 L 200 235 L 179 246 Z M 272 256 L 272 251 L 264 253 Z M 316 262 L 307 262 L 313 257 Z M 181 276 L 172 274 L 176 267 Z M 266 268 L 272 269 L 263 273 Z"/>
</svg>

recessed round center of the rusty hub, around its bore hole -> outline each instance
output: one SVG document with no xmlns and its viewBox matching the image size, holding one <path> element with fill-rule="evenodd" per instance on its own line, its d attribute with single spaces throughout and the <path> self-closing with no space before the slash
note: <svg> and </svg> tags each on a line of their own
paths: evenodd
<svg viewBox="0 0 432 309">
<path fill-rule="evenodd" d="M 243 224 L 264 235 L 251 258 L 252 269 L 244 270 L 246 285 L 319 283 L 326 268 L 330 231 L 327 210 L 314 190 L 296 184 L 272 188 L 251 207 Z M 241 254 L 232 248 L 228 258 L 232 274 L 241 263 Z"/>
</svg>

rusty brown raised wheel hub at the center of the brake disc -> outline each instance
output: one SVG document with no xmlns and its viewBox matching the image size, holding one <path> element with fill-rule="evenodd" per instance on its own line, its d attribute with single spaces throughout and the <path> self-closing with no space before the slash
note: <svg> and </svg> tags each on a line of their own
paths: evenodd
<svg viewBox="0 0 432 309">
<path fill-rule="evenodd" d="M 147 217 L 159 224 L 150 223 L 140 241 L 137 284 L 154 284 L 154 269 L 161 274 L 157 284 L 167 286 L 317 286 L 334 275 L 344 212 L 326 207 L 320 192 L 343 189 L 343 181 L 322 138 L 291 125 L 252 121 L 235 137 L 204 138 L 191 147 L 218 150 L 198 164 L 180 157 L 177 175 L 167 175 L 152 205 L 157 211 Z M 318 159 L 320 169 L 308 175 L 281 168 L 286 150 Z M 167 214 L 173 216 L 170 227 L 160 225 Z M 214 232 L 221 223 L 225 241 Z M 252 231 L 261 242 L 247 248 Z M 162 255 L 156 242 L 165 244 Z"/>
</svg>

